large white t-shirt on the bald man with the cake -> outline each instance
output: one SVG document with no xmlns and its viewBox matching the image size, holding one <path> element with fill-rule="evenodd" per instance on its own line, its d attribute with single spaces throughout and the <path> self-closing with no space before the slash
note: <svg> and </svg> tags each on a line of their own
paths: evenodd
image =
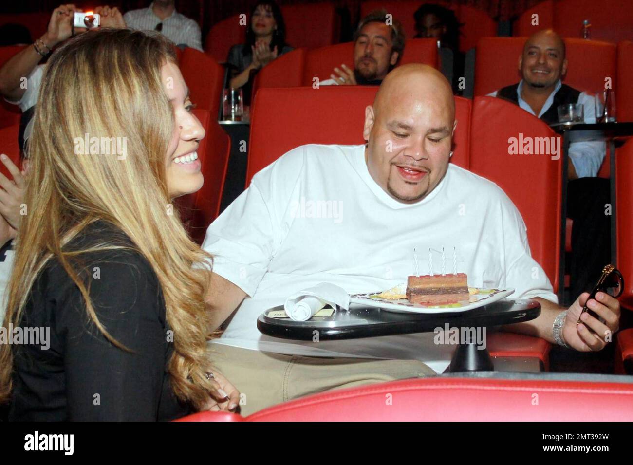
<svg viewBox="0 0 633 465">
<path fill-rule="evenodd" d="M 541 266 L 530 257 L 525 224 L 497 185 L 454 164 L 415 204 L 393 199 L 371 177 L 365 146 L 297 147 L 253 177 L 208 228 L 203 248 L 213 271 L 251 297 L 242 302 L 216 343 L 305 356 L 418 359 L 437 372 L 454 345 L 434 333 L 301 342 L 261 334 L 256 320 L 304 288 L 330 282 L 350 294 L 384 290 L 414 273 L 428 273 L 428 251 L 447 251 L 452 272 L 472 287 L 516 289 L 512 297 L 556 302 Z M 330 202 L 329 204 L 327 202 Z M 450 251 L 450 252 L 449 252 Z M 434 256 L 439 273 L 441 254 Z"/>
</svg>

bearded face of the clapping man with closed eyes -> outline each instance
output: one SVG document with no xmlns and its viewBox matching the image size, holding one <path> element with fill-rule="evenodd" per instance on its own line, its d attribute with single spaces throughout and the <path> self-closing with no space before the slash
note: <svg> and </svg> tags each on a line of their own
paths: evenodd
<svg viewBox="0 0 633 465">
<path fill-rule="evenodd" d="M 398 62 L 398 52 L 392 47 L 391 26 L 367 23 L 354 44 L 354 68 L 367 80 L 384 79 L 389 66 Z"/>
</svg>

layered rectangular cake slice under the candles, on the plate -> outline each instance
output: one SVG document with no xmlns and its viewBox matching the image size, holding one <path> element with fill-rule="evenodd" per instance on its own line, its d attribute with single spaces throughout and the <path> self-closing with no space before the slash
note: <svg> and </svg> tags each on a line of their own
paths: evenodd
<svg viewBox="0 0 633 465">
<path fill-rule="evenodd" d="M 406 298 L 411 304 L 447 305 L 468 301 L 466 273 L 408 276 Z"/>
</svg>

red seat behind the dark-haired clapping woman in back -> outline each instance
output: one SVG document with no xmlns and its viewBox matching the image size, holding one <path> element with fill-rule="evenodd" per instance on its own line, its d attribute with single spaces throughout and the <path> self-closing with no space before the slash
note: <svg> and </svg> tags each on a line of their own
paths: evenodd
<svg viewBox="0 0 633 465">
<path fill-rule="evenodd" d="M 282 5 L 280 8 L 284 16 L 285 39 L 292 47 L 315 48 L 337 42 L 341 26 L 333 4 L 319 2 Z M 246 28 L 251 27 L 250 9 L 244 13 L 246 25 L 241 25 L 240 16 L 234 15 L 214 24 L 207 34 L 204 51 L 218 63 L 225 63 L 230 48 L 246 39 Z"/>
</svg>

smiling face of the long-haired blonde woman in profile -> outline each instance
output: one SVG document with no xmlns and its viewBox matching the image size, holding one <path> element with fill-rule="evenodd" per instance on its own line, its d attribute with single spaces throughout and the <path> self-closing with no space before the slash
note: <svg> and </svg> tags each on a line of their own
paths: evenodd
<svg viewBox="0 0 633 465">
<path fill-rule="evenodd" d="M 204 128 L 193 115 L 189 89 L 177 65 L 168 62 L 162 69 L 163 87 L 172 102 L 173 132 L 165 156 L 167 189 L 173 199 L 199 190 L 204 178 L 197 157 L 197 147 L 204 138 Z"/>
</svg>

